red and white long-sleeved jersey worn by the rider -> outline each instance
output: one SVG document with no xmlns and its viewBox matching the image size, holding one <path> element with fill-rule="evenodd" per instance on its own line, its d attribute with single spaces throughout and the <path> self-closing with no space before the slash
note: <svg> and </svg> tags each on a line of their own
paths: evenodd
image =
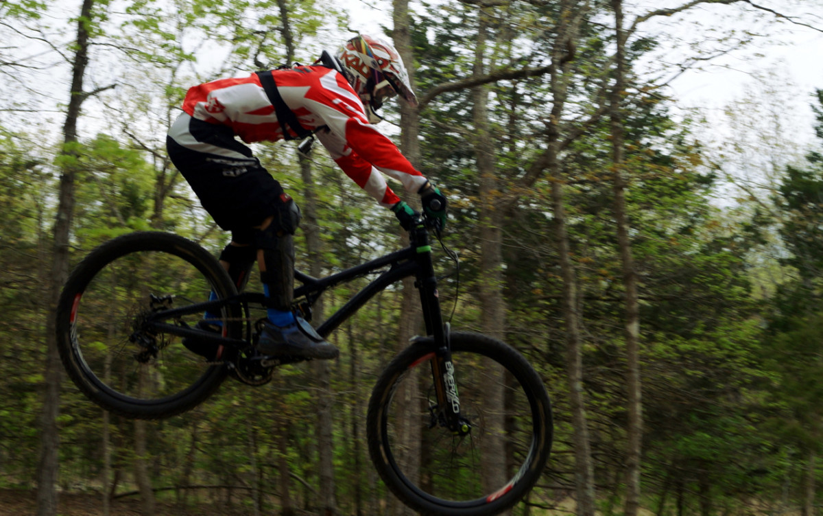
<svg viewBox="0 0 823 516">
<path fill-rule="evenodd" d="M 408 192 L 416 193 L 425 184 L 425 177 L 398 147 L 369 123 L 360 98 L 340 73 L 307 66 L 274 70 L 272 76 L 300 125 L 309 130 L 326 126 L 328 129 L 316 132 L 318 140 L 346 175 L 380 204 L 388 207 L 400 199 L 378 170 L 398 179 Z M 255 73 L 194 86 L 186 94 L 183 109 L 195 119 L 229 126 L 246 143 L 283 139 L 284 128 Z M 184 134 L 170 132 L 170 136 L 193 150 L 248 159 L 230 149 L 206 149 L 202 142 Z"/>
</svg>

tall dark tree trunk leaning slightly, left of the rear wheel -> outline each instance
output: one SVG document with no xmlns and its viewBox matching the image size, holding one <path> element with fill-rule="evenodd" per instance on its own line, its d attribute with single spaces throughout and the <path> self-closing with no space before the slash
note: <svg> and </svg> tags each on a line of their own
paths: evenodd
<svg viewBox="0 0 823 516">
<path fill-rule="evenodd" d="M 60 175 L 60 191 L 58 193 L 58 210 L 54 222 L 54 252 L 52 257 L 51 275 L 49 277 L 49 307 L 46 319 L 46 360 L 45 360 L 45 389 L 43 414 L 40 428 L 40 462 L 37 466 L 37 515 L 54 516 L 57 514 L 57 482 L 58 482 L 58 449 L 60 439 L 58 435 L 58 415 L 60 412 L 60 378 L 62 375 L 60 356 L 57 350 L 57 336 L 55 335 L 55 314 L 60 291 L 68 277 L 69 263 L 69 235 L 72 229 L 74 216 L 74 179 L 77 173 L 77 150 L 73 144 L 77 142 L 77 119 L 80 117 L 80 106 L 85 100 L 83 93 L 83 77 L 88 65 L 89 32 L 88 23 L 91 20 L 91 7 L 94 0 L 83 0 L 80 16 L 77 21 L 77 42 L 72 63 L 72 86 L 69 90 L 68 109 L 66 120 L 63 123 L 63 170 Z"/>
</svg>

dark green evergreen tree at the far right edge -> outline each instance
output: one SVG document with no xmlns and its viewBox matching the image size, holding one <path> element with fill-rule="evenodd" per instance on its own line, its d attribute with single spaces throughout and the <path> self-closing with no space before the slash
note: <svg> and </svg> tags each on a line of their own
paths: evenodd
<svg viewBox="0 0 823 516">
<path fill-rule="evenodd" d="M 823 142 L 823 91 L 813 106 L 816 132 Z M 788 254 L 782 262 L 796 276 L 779 287 L 770 305 L 769 351 L 764 360 L 777 375 L 779 389 L 772 400 L 779 407 L 770 425 L 780 438 L 798 449 L 821 451 L 823 411 L 820 408 L 823 351 L 820 334 L 823 316 L 819 308 L 823 269 L 820 251 L 823 234 L 823 163 L 819 151 L 807 155 L 808 168 L 788 166 L 779 185 L 776 204 L 783 211 L 780 236 Z"/>
</svg>

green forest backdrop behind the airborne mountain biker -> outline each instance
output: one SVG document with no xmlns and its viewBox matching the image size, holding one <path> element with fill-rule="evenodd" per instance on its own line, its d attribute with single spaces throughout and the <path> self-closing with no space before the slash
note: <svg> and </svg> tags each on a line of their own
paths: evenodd
<svg viewBox="0 0 823 516">
<path fill-rule="evenodd" d="M 763 69 L 708 112 L 669 85 L 819 32 L 821 3 L 394 0 L 377 28 L 313 0 L 4 0 L 0 512 L 407 512 L 364 435 L 371 380 L 417 330 L 402 289 L 332 336 L 340 360 L 227 383 L 160 422 L 81 397 L 50 315 L 106 239 L 226 244 L 165 155 L 188 86 L 379 30 L 421 99 L 381 127 L 451 202 L 453 327 L 516 346 L 554 402 L 550 467 L 513 514 L 818 513 L 823 92 Z M 798 103 L 816 115 L 803 128 Z M 255 150 L 304 207 L 300 268 L 399 245 L 322 152 Z"/>
</svg>

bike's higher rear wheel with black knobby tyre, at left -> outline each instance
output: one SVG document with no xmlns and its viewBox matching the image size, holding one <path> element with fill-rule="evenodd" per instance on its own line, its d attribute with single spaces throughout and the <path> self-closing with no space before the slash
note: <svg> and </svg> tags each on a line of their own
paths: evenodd
<svg viewBox="0 0 823 516">
<path fill-rule="evenodd" d="M 147 321 L 157 310 L 207 301 L 212 291 L 219 299 L 236 294 L 216 258 L 180 236 L 138 232 L 100 245 L 74 268 L 58 304 L 58 349 L 69 377 L 121 416 L 159 419 L 197 406 L 226 378 L 226 365 Z M 194 328 L 202 317 L 189 310 L 164 322 Z M 239 308 L 226 306 L 221 318 L 224 336 L 239 338 L 242 328 L 227 321 L 239 320 Z"/>
</svg>

